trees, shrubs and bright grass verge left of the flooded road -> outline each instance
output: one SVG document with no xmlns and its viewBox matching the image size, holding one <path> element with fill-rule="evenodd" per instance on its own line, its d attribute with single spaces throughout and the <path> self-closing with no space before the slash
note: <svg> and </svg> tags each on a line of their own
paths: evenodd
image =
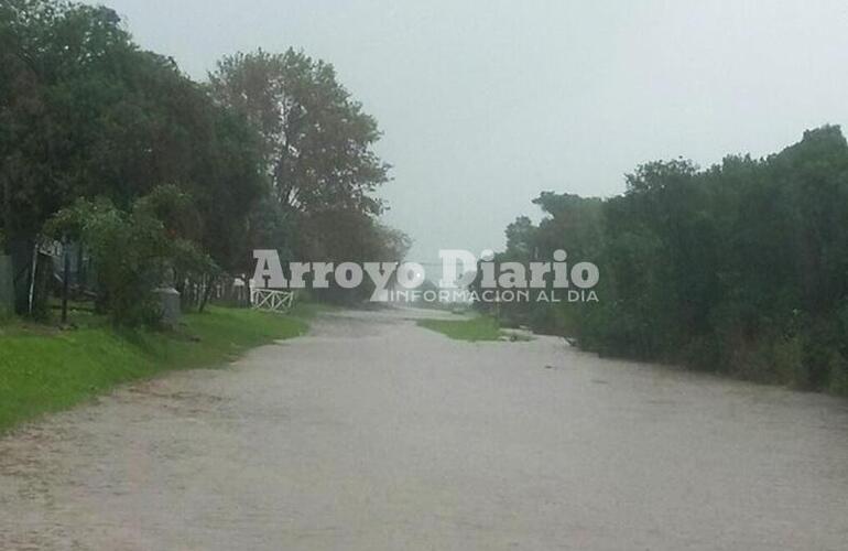
<svg viewBox="0 0 848 551">
<path fill-rule="evenodd" d="M 237 53 L 194 82 L 108 7 L 1 1 L 0 431 L 302 334 L 303 312 L 247 310 L 254 249 L 400 260 L 380 136 L 304 52 Z"/>
</svg>

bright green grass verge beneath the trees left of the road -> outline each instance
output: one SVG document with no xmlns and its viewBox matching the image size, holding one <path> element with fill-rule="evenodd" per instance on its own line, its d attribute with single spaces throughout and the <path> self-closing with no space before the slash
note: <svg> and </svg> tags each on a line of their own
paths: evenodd
<svg viewBox="0 0 848 551">
<path fill-rule="evenodd" d="M 97 321 L 70 332 L 17 322 L 0 326 L 0 433 L 122 382 L 225 365 L 248 348 L 302 335 L 314 310 L 302 305 L 280 316 L 213 306 L 185 315 L 170 333 L 121 332 Z"/>
</svg>

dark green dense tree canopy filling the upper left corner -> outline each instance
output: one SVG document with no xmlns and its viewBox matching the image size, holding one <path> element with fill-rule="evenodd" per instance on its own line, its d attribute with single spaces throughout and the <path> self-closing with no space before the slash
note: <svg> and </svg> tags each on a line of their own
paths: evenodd
<svg viewBox="0 0 848 551">
<path fill-rule="evenodd" d="M 0 225 L 12 240 L 78 197 L 128 209 L 164 182 L 195 197 L 189 225 L 226 268 L 267 183 L 258 132 L 170 58 L 140 51 L 107 8 L 13 0 L 0 11 Z"/>
</svg>

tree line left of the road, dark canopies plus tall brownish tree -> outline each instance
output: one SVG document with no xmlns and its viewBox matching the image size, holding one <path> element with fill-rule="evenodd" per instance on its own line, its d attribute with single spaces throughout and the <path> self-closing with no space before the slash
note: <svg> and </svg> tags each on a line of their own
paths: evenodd
<svg viewBox="0 0 848 551">
<path fill-rule="evenodd" d="M 405 237 L 377 222 L 372 192 L 389 181 L 379 137 L 333 66 L 301 52 L 233 55 L 196 83 L 140 48 L 108 8 L 0 2 L 0 240 L 19 274 L 57 215 L 46 227 L 57 239 L 90 237 L 79 217 L 112 208 L 132 233 L 149 225 L 138 204 L 151 196 L 182 197 L 157 231 L 208 257 L 192 264 L 215 267 L 202 278 L 249 273 L 253 248 L 402 255 Z M 185 247 L 157 250 L 177 284 L 196 276 L 180 271 Z"/>
</svg>

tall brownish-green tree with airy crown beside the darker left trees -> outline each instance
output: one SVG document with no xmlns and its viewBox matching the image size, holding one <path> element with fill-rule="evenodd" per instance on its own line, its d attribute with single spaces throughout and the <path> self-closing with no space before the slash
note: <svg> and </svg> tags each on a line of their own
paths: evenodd
<svg viewBox="0 0 848 551">
<path fill-rule="evenodd" d="M 331 65 L 291 48 L 259 50 L 225 57 L 209 80 L 217 102 L 261 136 L 272 195 L 251 216 L 251 248 L 316 261 L 402 260 L 409 239 L 374 219 L 384 205 L 372 192 L 390 169 L 373 151 L 377 121 Z"/>
</svg>

